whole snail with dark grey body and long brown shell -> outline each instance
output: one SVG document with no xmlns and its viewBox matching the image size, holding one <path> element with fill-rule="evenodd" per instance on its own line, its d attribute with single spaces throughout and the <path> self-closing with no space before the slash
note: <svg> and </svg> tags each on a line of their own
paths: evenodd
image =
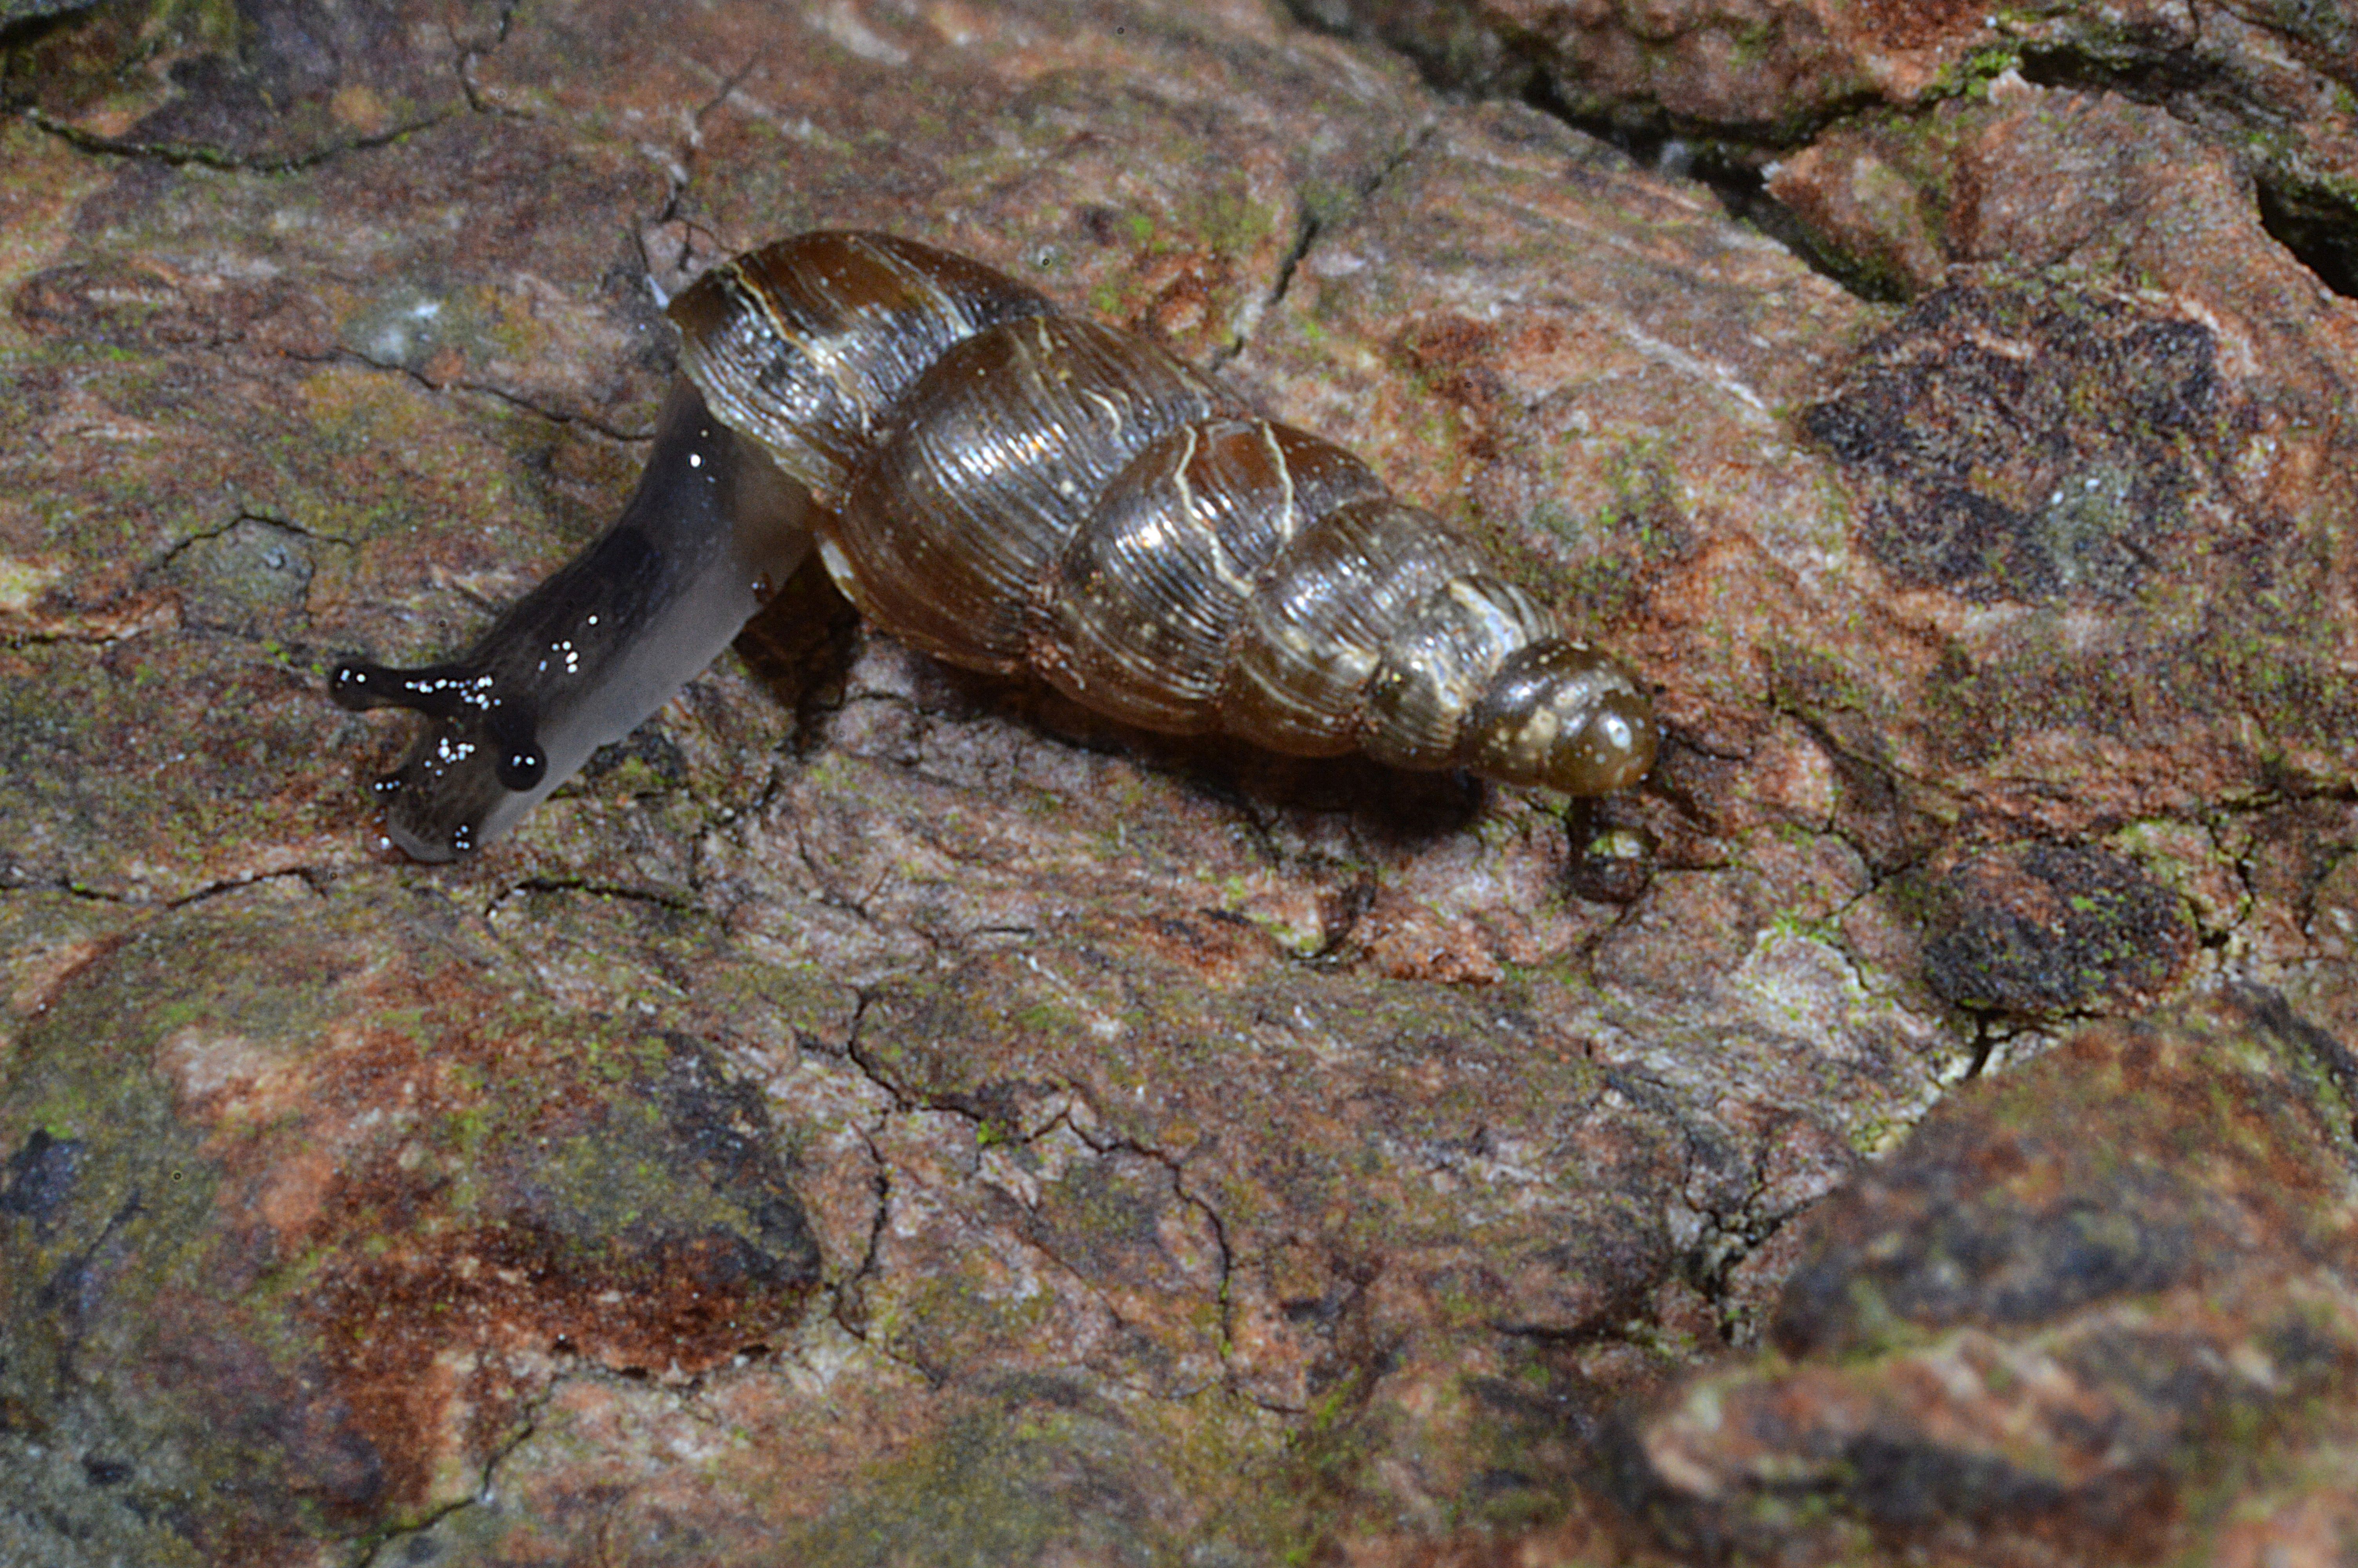
<svg viewBox="0 0 2358 1568">
<path fill-rule="evenodd" d="M 703 670 L 816 545 L 882 630 L 1085 707 L 1276 752 L 1368 752 L 1568 795 L 1653 766 L 1653 707 L 1351 453 L 1160 344 L 957 255 L 804 233 L 670 302 L 639 488 L 448 665 L 340 665 L 427 719 L 375 783 L 448 861 Z"/>
</svg>

